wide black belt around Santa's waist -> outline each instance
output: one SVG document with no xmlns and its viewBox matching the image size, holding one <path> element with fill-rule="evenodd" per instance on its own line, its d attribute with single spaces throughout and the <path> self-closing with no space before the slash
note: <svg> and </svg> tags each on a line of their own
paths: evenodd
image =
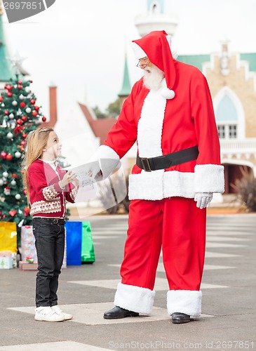
<svg viewBox="0 0 256 351">
<path fill-rule="evenodd" d="M 136 164 L 138 167 L 144 169 L 144 171 L 151 172 L 197 159 L 198 153 L 198 147 L 196 145 L 188 149 L 172 152 L 171 154 L 165 154 L 163 156 L 151 157 L 149 159 L 137 155 Z"/>
</svg>

